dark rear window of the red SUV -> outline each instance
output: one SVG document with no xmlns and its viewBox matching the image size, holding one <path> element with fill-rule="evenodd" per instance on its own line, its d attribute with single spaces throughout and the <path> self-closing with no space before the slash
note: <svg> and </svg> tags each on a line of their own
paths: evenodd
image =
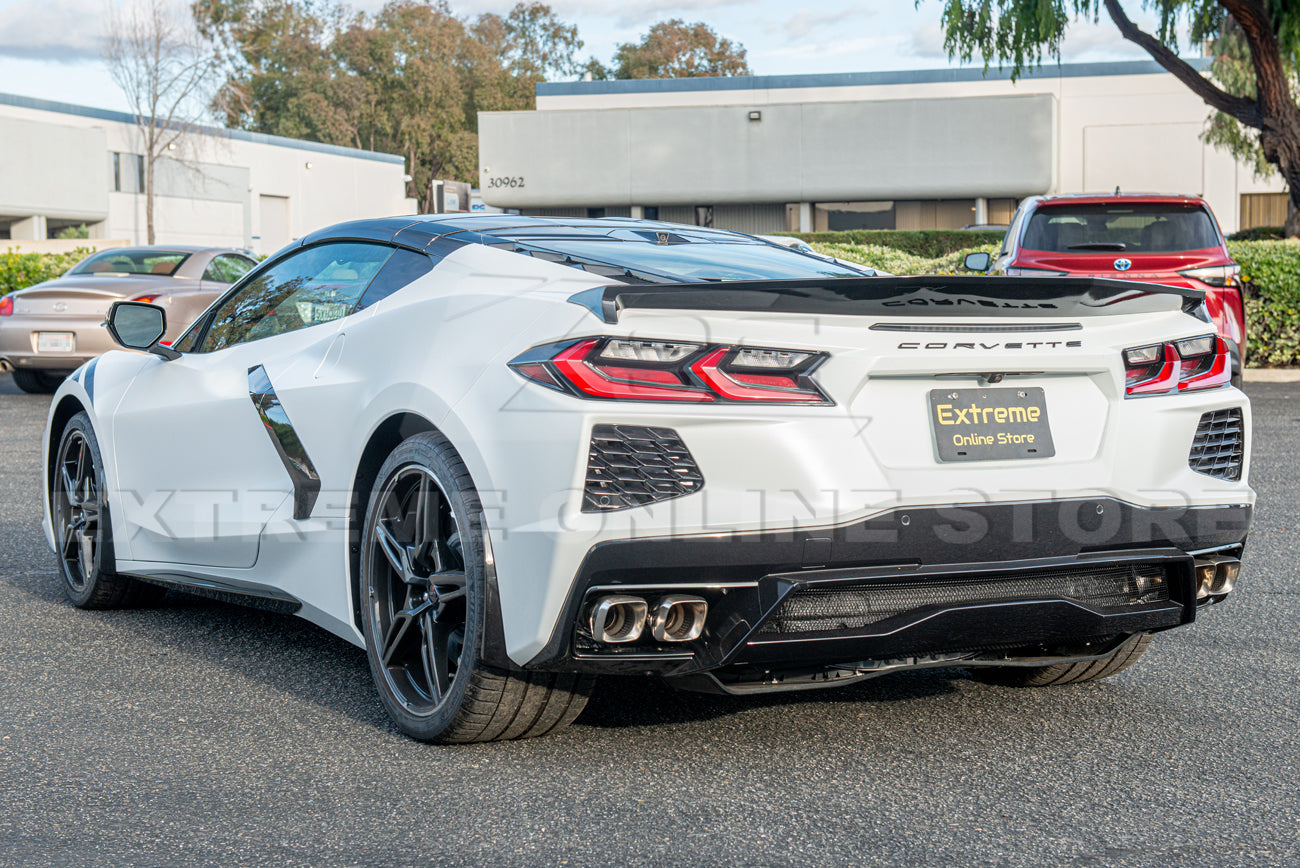
<svg viewBox="0 0 1300 868">
<path fill-rule="evenodd" d="M 1196 205 L 1066 205 L 1030 217 L 1020 247 L 1053 253 L 1179 253 L 1218 247 L 1214 220 Z"/>
</svg>

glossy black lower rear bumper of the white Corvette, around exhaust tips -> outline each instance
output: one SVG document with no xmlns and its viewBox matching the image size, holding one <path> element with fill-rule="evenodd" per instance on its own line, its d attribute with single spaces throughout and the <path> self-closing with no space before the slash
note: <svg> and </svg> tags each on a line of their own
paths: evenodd
<svg viewBox="0 0 1300 868">
<path fill-rule="evenodd" d="M 528 668 L 655 673 L 771 673 L 898 657 L 1030 650 L 1069 654 L 1089 643 L 1164 630 L 1196 617 L 1193 554 L 1239 555 L 1248 505 L 1147 508 L 1109 498 L 900 508 L 829 529 L 728 537 L 606 542 L 588 554 L 560 626 Z M 654 564 L 654 567 L 646 567 Z M 1121 606 L 1024 593 L 1024 576 L 1091 576 L 1134 568 L 1164 576 L 1160 599 Z M 998 596 L 998 582 L 1017 593 Z M 982 591 L 962 598 L 959 582 Z M 1050 587 L 1050 582 L 1044 587 Z M 800 594 L 907 587 L 915 607 L 838 626 L 783 626 Z M 949 589 L 945 593 L 933 594 Z M 703 634 L 680 645 L 601 645 L 590 638 L 592 600 L 604 594 L 705 598 Z M 1014 599 L 1011 599 L 1014 596 Z M 930 602 L 927 602 L 927 598 Z"/>
</svg>

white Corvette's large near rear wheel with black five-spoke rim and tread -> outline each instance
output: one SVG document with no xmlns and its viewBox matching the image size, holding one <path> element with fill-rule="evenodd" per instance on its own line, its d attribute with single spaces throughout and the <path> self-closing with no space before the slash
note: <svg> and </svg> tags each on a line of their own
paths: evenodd
<svg viewBox="0 0 1300 868">
<path fill-rule="evenodd" d="M 446 438 L 417 434 L 393 451 L 364 528 L 365 654 L 380 702 L 403 733 L 439 743 L 532 738 L 578 716 L 592 677 L 482 661 L 482 505 Z"/>
</svg>

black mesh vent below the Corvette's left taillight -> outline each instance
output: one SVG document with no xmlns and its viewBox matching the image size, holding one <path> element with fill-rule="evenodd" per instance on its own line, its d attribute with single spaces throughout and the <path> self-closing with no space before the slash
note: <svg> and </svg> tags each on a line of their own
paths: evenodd
<svg viewBox="0 0 1300 868">
<path fill-rule="evenodd" d="M 690 450 L 671 428 L 597 425 L 586 460 L 582 512 L 604 512 L 671 500 L 699 491 Z"/>
</svg>

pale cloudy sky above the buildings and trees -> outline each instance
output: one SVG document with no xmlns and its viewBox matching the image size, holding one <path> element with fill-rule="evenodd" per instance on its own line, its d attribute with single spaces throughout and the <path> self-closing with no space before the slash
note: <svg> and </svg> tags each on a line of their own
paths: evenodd
<svg viewBox="0 0 1300 868">
<path fill-rule="evenodd" d="M 116 0 L 121 3 L 124 0 Z M 514 0 L 450 0 L 462 16 L 504 13 Z M 0 92 L 127 110 L 100 61 L 114 0 L 0 0 Z M 363 10 L 382 0 L 351 0 Z M 608 62 L 619 43 L 634 42 L 664 18 L 703 21 L 749 52 L 755 74 L 858 73 L 941 69 L 941 0 L 551 0 L 577 25 L 582 56 Z M 1140 4 L 1130 14 L 1150 26 Z M 1079 21 L 1062 47 L 1063 62 L 1148 60 L 1108 19 Z M 976 61 L 979 64 L 980 61 Z"/>
</svg>

